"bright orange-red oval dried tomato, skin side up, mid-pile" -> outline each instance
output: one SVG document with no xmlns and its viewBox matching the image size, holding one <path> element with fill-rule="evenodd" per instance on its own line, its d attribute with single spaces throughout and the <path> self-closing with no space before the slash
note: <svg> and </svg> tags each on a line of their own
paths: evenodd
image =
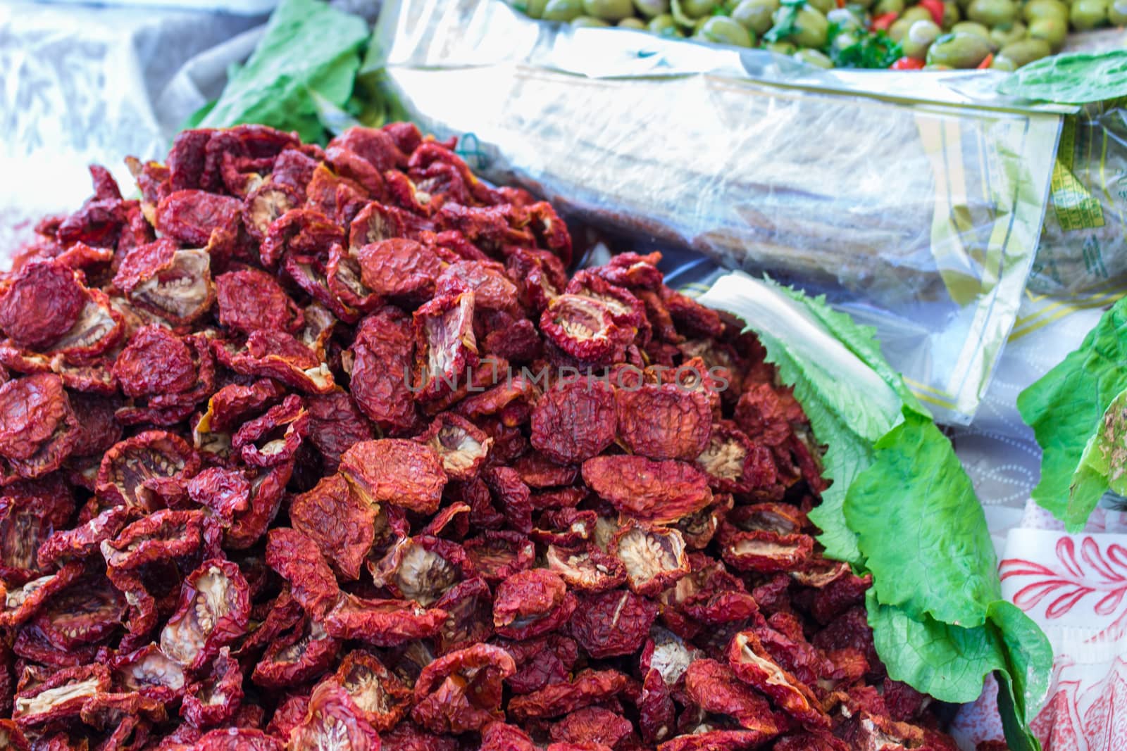
<svg viewBox="0 0 1127 751">
<path fill-rule="evenodd" d="M 340 457 L 340 473 L 369 503 L 394 503 L 434 513 L 442 502 L 446 473 L 429 446 L 398 438 L 355 444 Z"/>
</svg>

